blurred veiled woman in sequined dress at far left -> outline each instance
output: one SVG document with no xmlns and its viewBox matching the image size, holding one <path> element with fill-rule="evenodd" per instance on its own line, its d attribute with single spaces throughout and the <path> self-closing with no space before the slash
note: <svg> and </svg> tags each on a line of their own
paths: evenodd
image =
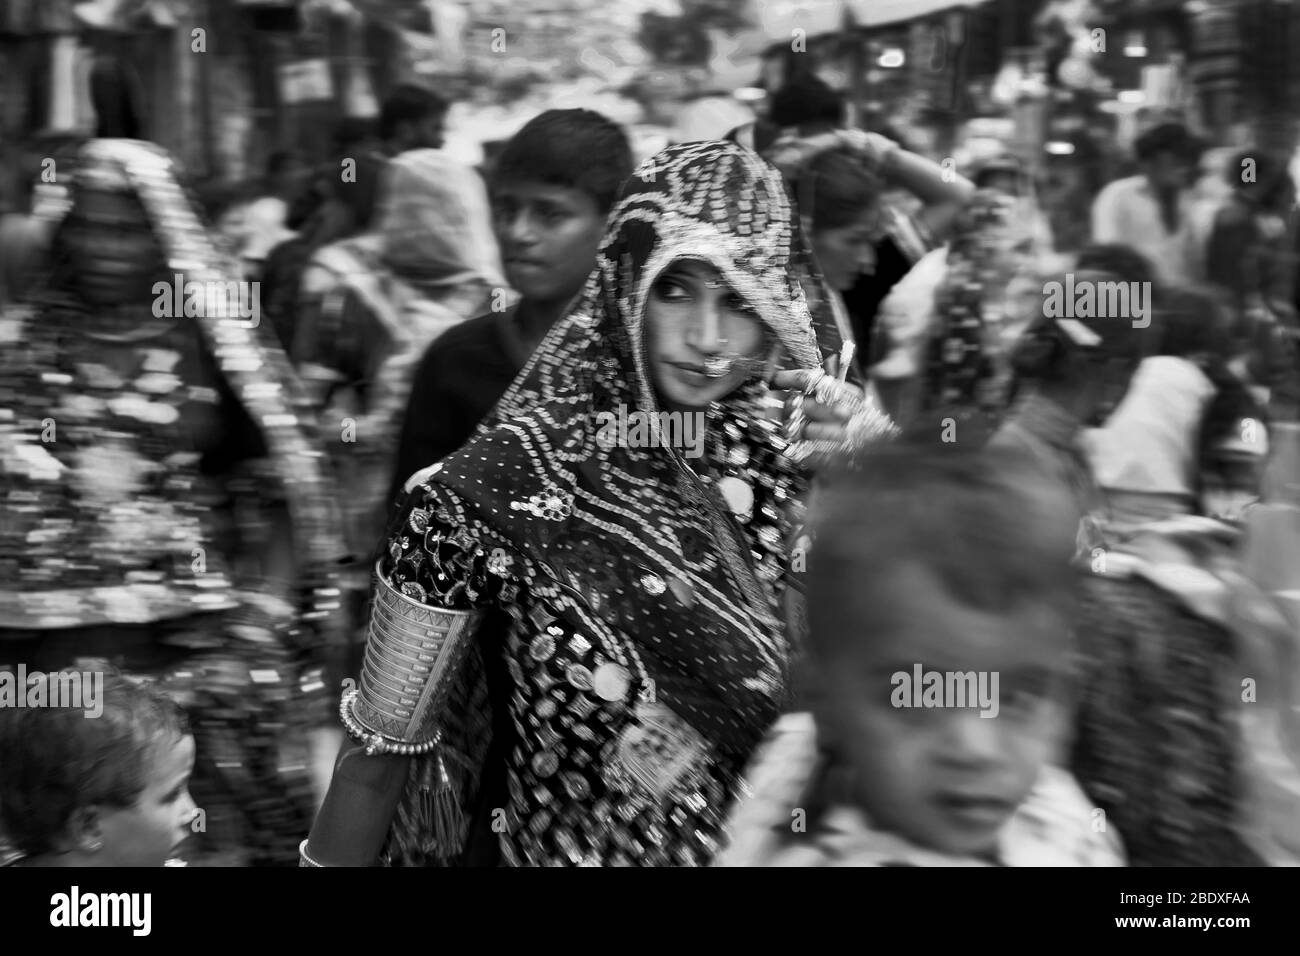
<svg viewBox="0 0 1300 956">
<path fill-rule="evenodd" d="M 0 323 L 3 656 L 161 680 L 194 718 L 204 848 L 283 861 L 343 554 L 318 453 L 172 159 L 92 140 L 65 176 L 48 272 Z"/>
</svg>

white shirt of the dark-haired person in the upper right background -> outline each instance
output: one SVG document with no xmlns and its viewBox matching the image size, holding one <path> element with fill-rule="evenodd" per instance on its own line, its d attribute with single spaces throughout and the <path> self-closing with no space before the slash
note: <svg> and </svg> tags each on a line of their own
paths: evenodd
<svg viewBox="0 0 1300 956">
<path fill-rule="evenodd" d="M 1092 203 L 1092 241 L 1119 243 L 1141 252 L 1166 282 L 1197 281 L 1196 202 L 1178 196 L 1178 229 L 1169 232 L 1145 176 L 1108 183 Z"/>
</svg>

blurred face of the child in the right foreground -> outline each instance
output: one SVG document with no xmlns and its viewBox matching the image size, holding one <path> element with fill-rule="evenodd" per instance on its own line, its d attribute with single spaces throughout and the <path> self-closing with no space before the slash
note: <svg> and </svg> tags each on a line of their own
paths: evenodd
<svg viewBox="0 0 1300 956">
<path fill-rule="evenodd" d="M 893 596 L 892 623 L 854 636 L 850 650 L 820 667 L 823 740 L 853 773 L 872 826 L 941 852 L 988 856 L 1058 743 L 1066 622 L 1044 605 L 1010 617 L 963 607 L 916 564 L 876 593 Z M 948 696 L 940 708 L 896 706 L 913 701 L 913 688 L 893 675 L 911 679 L 918 663 L 923 674 L 974 671 L 980 691 L 996 693 L 984 701 L 976 693 L 965 708 Z"/>
</svg>

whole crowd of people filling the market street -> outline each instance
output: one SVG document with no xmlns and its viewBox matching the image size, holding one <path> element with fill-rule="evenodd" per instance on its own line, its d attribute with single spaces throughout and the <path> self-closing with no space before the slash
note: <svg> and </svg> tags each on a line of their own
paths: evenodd
<svg viewBox="0 0 1300 956">
<path fill-rule="evenodd" d="M 0 698 L 0 862 L 1300 862 L 1283 157 L 1206 207 L 1157 124 L 1062 252 L 815 81 L 640 164 L 446 113 L 0 222 L 0 665 L 103 679 Z"/>
</svg>

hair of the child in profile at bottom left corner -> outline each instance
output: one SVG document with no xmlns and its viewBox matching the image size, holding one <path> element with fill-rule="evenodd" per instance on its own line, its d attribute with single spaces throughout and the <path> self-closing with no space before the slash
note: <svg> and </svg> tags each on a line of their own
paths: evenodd
<svg viewBox="0 0 1300 956">
<path fill-rule="evenodd" d="M 0 832 L 26 856 L 52 852 L 82 806 L 130 806 L 148 784 L 156 745 L 190 735 L 185 711 L 161 691 L 82 663 L 82 674 L 104 674 L 98 717 L 0 709 Z"/>
</svg>

